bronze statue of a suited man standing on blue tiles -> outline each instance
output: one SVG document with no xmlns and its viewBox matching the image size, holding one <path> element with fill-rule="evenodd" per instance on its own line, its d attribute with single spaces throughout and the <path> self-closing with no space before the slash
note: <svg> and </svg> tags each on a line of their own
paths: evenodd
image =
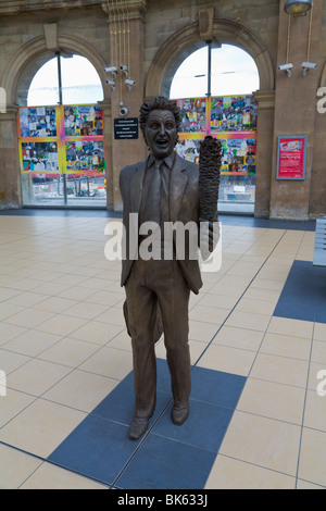
<svg viewBox="0 0 326 511">
<path fill-rule="evenodd" d="M 181 425 L 189 415 L 188 308 L 190 290 L 198 294 L 202 286 L 199 261 L 189 256 L 191 239 L 186 241 L 183 258 L 176 257 L 173 242 L 173 257 L 164 259 L 161 234 L 156 239 L 162 258 L 139 257 L 139 246 L 147 238 L 146 233 L 141 234 L 145 223 L 154 223 L 161 233 L 168 222 L 199 225 L 199 165 L 185 161 L 174 150 L 180 122 L 176 103 L 165 98 L 143 103 L 139 123 L 150 154 L 145 161 L 124 167 L 120 178 L 126 240 L 122 286 L 126 291 L 124 310 L 131 337 L 135 378 L 135 410 L 129 426 L 129 438 L 134 440 L 147 431 L 155 408 L 158 317 L 162 320 L 171 373 L 172 421 Z M 198 232 L 189 233 L 198 248 Z M 128 245 L 133 234 L 138 253 Z"/>
</svg>

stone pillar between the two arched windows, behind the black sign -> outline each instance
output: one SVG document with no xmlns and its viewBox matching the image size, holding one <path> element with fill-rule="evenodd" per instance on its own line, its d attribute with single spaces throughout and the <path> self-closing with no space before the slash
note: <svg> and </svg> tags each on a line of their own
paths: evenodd
<svg viewBox="0 0 326 511">
<path fill-rule="evenodd" d="M 110 66 L 117 67 L 117 76 L 108 74 L 108 79 L 113 78 L 115 86 L 111 92 L 112 112 L 112 203 L 114 211 L 122 211 L 120 194 L 120 172 L 128 164 L 136 163 L 146 158 L 147 150 L 139 133 L 138 139 L 116 140 L 114 138 L 114 120 L 138 117 L 139 108 L 143 101 L 143 14 L 147 0 L 129 0 L 127 8 L 117 9 L 116 3 L 109 7 L 103 3 L 103 9 L 109 16 L 109 37 L 111 46 Z M 129 52 L 128 52 L 129 50 Z M 127 62 L 122 62 L 125 58 Z M 128 77 L 120 70 L 121 65 L 128 65 Z M 135 85 L 127 86 L 125 79 L 131 79 Z M 121 109 L 128 110 L 127 115 L 121 115 Z M 111 159 L 110 159 L 111 160 Z"/>
</svg>

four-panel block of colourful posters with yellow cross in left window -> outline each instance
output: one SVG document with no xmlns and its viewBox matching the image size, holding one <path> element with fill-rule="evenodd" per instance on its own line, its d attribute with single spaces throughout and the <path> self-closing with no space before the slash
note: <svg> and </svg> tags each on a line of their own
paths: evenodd
<svg viewBox="0 0 326 511">
<path fill-rule="evenodd" d="M 99 104 L 21 108 L 21 173 L 103 175 L 103 124 Z"/>
</svg>

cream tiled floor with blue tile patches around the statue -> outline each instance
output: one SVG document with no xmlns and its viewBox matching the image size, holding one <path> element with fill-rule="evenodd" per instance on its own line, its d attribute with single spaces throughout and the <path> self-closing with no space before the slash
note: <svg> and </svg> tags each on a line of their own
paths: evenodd
<svg viewBox="0 0 326 511">
<path fill-rule="evenodd" d="M 191 297 L 190 417 L 171 423 L 161 340 L 155 415 L 133 443 L 124 290 L 104 258 L 113 220 L 0 214 L 0 488 L 325 488 L 314 223 L 221 217 L 222 269 Z"/>
</svg>

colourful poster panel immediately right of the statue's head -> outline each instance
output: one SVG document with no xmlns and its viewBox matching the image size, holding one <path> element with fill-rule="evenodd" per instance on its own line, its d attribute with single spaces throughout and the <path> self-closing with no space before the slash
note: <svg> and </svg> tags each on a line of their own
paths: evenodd
<svg viewBox="0 0 326 511">
<path fill-rule="evenodd" d="M 206 130 L 206 99 L 177 99 L 177 105 L 181 112 L 180 133 Z"/>
</svg>

